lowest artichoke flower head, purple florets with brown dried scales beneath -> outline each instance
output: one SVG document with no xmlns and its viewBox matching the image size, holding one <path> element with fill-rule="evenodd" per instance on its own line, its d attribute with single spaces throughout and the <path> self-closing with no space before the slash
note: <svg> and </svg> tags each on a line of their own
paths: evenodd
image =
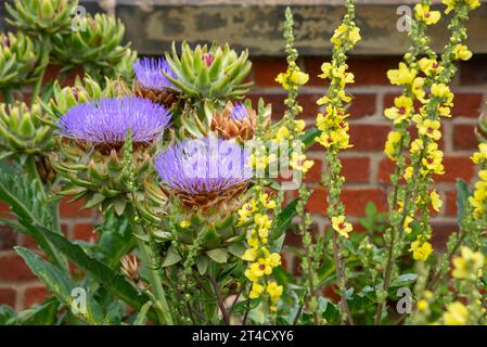
<svg viewBox="0 0 487 347">
<path fill-rule="evenodd" d="M 208 137 L 184 140 L 165 150 L 155 167 L 167 194 L 190 214 L 231 214 L 252 178 L 248 152 L 235 141 Z"/>
</svg>

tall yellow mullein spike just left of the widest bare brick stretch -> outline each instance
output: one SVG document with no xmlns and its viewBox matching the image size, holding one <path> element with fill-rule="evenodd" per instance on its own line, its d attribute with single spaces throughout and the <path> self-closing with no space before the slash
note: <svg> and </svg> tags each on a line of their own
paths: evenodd
<svg viewBox="0 0 487 347">
<path fill-rule="evenodd" d="M 348 149 L 348 124 L 345 120 L 348 115 L 345 112 L 346 104 L 351 97 L 345 92 L 347 83 L 354 82 L 354 74 L 348 73 L 346 53 L 360 40 L 360 29 L 355 24 L 355 1 L 346 1 L 346 14 L 343 23 L 335 29 L 331 41 L 334 43 L 331 63 L 323 63 L 322 74 L 319 76 L 330 80 L 328 94 L 318 100 L 319 105 L 325 105 L 325 112 L 317 117 L 317 127 L 321 134 L 316 139 L 326 150 L 325 159 L 328 172 L 323 176 L 323 184 L 329 188 L 328 215 L 332 222 L 333 259 L 337 277 L 338 288 L 342 293 L 339 312 L 341 321 L 346 320 L 353 324 L 353 318 L 348 308 L 346 292 L 345 259 L 347 250 L 344 241 L 353 231 L 351 224 L 345 217 L 345 206 L 339 200 L 345 178 L 342 176 L 342 163 L 338 154 Z"/>
</svg>

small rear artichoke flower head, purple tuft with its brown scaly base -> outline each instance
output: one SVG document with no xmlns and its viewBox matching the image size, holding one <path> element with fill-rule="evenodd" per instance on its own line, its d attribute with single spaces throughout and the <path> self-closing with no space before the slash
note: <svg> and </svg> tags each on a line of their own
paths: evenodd
<svg viewBox="0 0 487 347">
<path fill-rule="evenodd" d="M 136 95 L 149 99 L 168 108 L 172 106 L 177 101 L 178 89 L 167 76 L 177 77 L 166 59 L 138 59 L 133 64 L 133 70 L 136 73 L 133 87 Z"/>
</svg>

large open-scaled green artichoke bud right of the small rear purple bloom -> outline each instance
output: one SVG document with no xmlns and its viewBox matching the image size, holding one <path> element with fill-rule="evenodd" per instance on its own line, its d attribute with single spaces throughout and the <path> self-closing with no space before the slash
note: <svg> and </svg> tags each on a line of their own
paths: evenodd
<svg viewBox="0 0 487 347">
<path fill-rule="evenodd" d="M 243 82 L 252 68 L 248 52 L 240 55 L 230 49 L 212 44 L 196 46 L 194 50 L 188 42 L 181 44 L 181 55 L 172 43 L 171 54 L 166 53 L 167 62 L 176 77 L 167 78 L 188 98 L 229 100 L 241 99 L 252 82 Z"/>
</svg>

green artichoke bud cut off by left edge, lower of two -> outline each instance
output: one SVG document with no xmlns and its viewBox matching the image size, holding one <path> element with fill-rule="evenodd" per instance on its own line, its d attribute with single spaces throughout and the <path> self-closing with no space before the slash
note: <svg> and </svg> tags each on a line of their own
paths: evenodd
<svg viewBox="0 0 487 347">
<path fill-rule="evenodd" d="M 53 130 L 43 124 L 41 108 L 24 103 L 0 104 L 0 149 L 3 156 L 44 155 L 55 146 Z"/>
</svg>

